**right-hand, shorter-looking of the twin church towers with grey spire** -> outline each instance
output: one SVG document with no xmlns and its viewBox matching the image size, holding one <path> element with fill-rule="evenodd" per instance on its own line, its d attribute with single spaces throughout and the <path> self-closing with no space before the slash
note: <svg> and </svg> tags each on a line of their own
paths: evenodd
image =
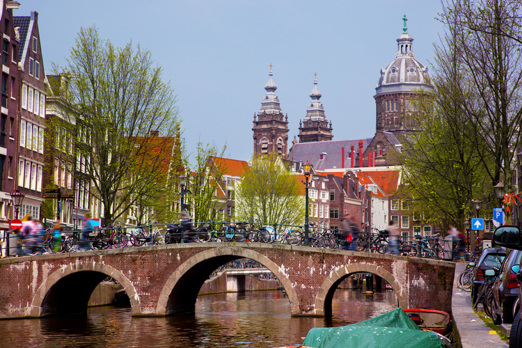
<svg viewBox="0 0 522 348">
<path fill-rule="evenodd" d="M 328 119 L 324 116 L 324 106 L 319 99 L 322 97 L 317 88 L 317 74 L 315 74 L 314 89 L 310 93 L 312 101 L 306 109 L 306 116 L 301 122 L 299 120 L 299 143 L 309 143 L 310 141 L 329 141 L 332 140 L 332 122 L 330 127 Z"/>
</svg>

